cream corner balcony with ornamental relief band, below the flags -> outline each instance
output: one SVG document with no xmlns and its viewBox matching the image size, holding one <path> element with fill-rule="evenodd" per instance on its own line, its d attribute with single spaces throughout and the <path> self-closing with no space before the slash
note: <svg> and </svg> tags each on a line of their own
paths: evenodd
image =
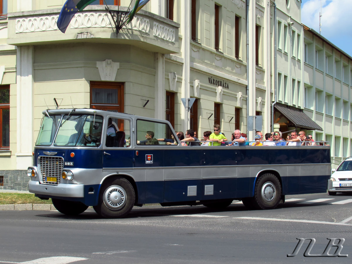
<svg viewBox="0 0 352 264">
<path fill-rule="evenodd" d="M 118 10 L 118 6 L 109 6 Z M 120 11 L 126 7 L 120 7 Z M 180 24 L 159 15 L 140 10 L 131 23 L 117 35 L 115 25 L 105 6 L 90 5 L 77 12 L 65 33 L 56 25 L 61 9 L 8 13 L 7 44 L 43 45 L 63 43 L 112 43 L 137 46 L 163 54 L 180 53 Z"/>
</svg>

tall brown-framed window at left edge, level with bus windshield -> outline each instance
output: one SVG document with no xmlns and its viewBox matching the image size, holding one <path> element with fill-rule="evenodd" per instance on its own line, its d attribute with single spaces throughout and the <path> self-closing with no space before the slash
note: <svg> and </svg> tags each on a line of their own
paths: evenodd
<svg viewBox="0 0 352 264">
<path fill-rule="evenodd" d="M 10 148 L 10 86 L 0 86 L 0 148 Z"/>
</svg>

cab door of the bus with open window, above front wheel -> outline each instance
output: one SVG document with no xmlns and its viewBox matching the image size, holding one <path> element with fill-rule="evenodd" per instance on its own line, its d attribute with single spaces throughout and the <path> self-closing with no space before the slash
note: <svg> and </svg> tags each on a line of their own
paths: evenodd
<svg viewBox="0 0 352 264">
<path fill-rule="evenodd" d="M 132 119 L 108 115 L 106 121 L 104 123 L 106 128 L 104 130 L 105 142 L 103 142 L 103 171 L 132 170 L 133 149 L 130 144 Z"/>
</svg>

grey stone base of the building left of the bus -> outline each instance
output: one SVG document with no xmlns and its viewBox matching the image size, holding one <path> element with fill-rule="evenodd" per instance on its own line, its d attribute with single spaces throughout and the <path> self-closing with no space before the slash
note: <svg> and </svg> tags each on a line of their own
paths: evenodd
<svg viewBox="0 0 352 264">
<path fill-rule="evenodd" d="M 26 170 L 0 170 L 0 189 L 27 191 L 30 178 Z"/>
</svg>

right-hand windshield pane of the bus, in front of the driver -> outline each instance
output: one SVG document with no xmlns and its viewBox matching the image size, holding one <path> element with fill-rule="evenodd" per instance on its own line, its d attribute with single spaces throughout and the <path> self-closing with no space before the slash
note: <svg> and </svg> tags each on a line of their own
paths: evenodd
<svg viewBox="0 0 352 264">
<path fill-rule="evenodd" d="M 95 115 L 64 115 L 54 146 L 98 147 L 103 118 Z"/>
</svg>

